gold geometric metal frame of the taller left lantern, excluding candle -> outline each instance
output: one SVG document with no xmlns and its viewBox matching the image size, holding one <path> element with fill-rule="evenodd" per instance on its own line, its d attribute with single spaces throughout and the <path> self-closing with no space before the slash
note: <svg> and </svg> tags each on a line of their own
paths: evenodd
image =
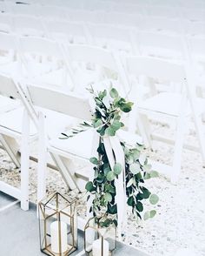
<svg viewBox="0 0 205 256">
<path fill-rule="evenodd" d="M 63 203 L 62 203 L 63 202 Z M 53 203 L 53 204 L 52 204 Z M 59 192 L 51 194 L 49 197 L 42 199 L 38 203 L 38 219 L 39 219 L 39 238 L 40 238 L 40 249 L 42 253 L 50 256 L 68 256 L 69 254 L 77 250 L 77 216 L 76 216 L 76 199 L 73 199 L 67 195 L 62 195 Z M 62 235 L 60 221 L 66 219 L 67 227 L 67 245 L 68 249 L 62 252 Z M 58 221 L 58 245 L 59 253 L 54 253 L 51 250 L 50 243 L 50 231 L 47 225 L 53 221 Z M 68 242 L 71 236 L 71 243 Z"/>
</svg>

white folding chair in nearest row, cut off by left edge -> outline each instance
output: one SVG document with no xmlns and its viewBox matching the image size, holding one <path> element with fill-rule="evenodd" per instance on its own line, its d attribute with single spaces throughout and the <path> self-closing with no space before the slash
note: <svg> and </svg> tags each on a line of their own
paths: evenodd
<svg viewBox="0 0 205 256">
<path fill-rule="evenodd" d="M 58 138 L 63 129 L 69 129 L 70 124 L 76 124 L 76 119 L 69 118 L 62 113 L 56 114 L 52 109 L 35 109 L 33 104 L 30 103 L 30 95 L 24 84 L 14 83 L 10 77 L 4 75 L 0 76 L 0 81 L 0 95 L 18 98 L 23 104 L 22 107 L 0 114 L 0 142 L 14 164 L 21 168 L 21 189 L 19 190 L 0 181 L 0 190 L 20 199 L 22 209 L 28 210 L 30 144 L 37 137 L 39 138 L 39 150 L 41 152 L 37 156 L 38 165 L 42 167 L 42 163 L 44 163 L 42 161 L 44 157 L 44 133 L 42 123 L 38 122 L 38 112 L 41 113 L 40 120 L 46 117 L 43 125 L 46 127 L 46 134 L 49 138 Z M 55 99 L 53 98 L 53 100 Z M 20 148 L 17 144 L 19 140 L 21 140 Z M 19 152 L 21 152 L 21 158 Z M 36 158 L 36 155 L 32 155 L 32 158 Z M 53 163 L 51 164 L 53 165 Z"/>
</svg>

